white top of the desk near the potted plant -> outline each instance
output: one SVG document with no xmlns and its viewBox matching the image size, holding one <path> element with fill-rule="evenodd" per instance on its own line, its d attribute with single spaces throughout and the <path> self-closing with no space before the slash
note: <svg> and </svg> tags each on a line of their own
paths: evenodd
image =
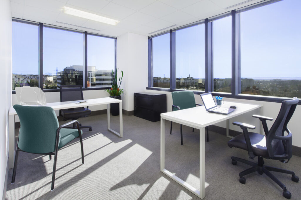
<svg viewBox="0 0 301 200">
<path fill-rule="evenodd" d="M 68 109 L 68 108 L 79 108 L 79 107 L 86 107 L 86 106 L 93 106 L 93 105 L 102 105 L 102 104 L 109 104 L 109 103 L 119 103 L 122 102 L 122 100 L 116 99 L 116 98 L 93 98 L 93 99 L 85 99 L 85 103 L 78 103 L 75 102 L 78 101 L 70 101 L 70 102 L 54 102 L 54 103 L 47 103 L 45 106 L 49 106 L 53 108 L 53 110 L 61 110 L 61 109 Z M 41 106 L 41 105 L 32 105 L 32 106 Z M 17 112 L 15 109 L 11 106 L 9 109 L 9 115 L 16 115 Z"/>
</svg>

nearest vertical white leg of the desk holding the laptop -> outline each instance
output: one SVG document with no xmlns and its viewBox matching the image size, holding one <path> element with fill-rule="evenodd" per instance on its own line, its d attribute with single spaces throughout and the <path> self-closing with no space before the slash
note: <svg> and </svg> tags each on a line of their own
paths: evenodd
<svg viewBox="0 0 301 200">
<path fill-rule="evenodd" d="M 205 197 L 205 128 L 200 129 L 200 198 Z"/>
</svg>

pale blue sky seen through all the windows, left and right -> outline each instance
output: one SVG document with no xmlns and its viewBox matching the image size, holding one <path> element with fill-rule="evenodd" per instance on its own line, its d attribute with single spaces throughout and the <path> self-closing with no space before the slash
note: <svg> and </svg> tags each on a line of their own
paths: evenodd
<svg viewBox="0 0 301 200">
<path fill-rule="evenodd" d="M 241 13 L 241 77 L 301 77 L 301 1 Z M 44 74 L 83 65 L 83 34 L 44 28 Z M 38 26 L 13 22 L 15 74 L 38 74 Z M 176 77 L 205 77 L 204 24 L 176 31 Z M 88 65 L 114 68 L 114 39 L 88 35 Z M 169 34 L 153 38 L 154 77 L 169 77 Z M 213 22 L 213 77 L 231 78 L 231 17 Z"/>
</svg>

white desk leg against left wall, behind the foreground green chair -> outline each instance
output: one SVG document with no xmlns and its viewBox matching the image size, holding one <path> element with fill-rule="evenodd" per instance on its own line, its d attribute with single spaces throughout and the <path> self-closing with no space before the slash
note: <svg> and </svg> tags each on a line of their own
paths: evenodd
<svg viewBox="0 0 301 200">
<path fill-rule="evenodd" d="M 15 116 L 9 115 L 9 127 L 8 127 L 8 158 L 9 168 L 14 167 L 15 157 Z"/>
</svg>

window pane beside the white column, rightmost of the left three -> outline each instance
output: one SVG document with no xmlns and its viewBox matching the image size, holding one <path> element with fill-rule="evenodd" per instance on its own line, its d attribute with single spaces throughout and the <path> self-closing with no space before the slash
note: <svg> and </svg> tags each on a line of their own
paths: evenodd
<svg viewBox="0 0 301 200">
<path fill-rule="evenodd" d="M 88 87 L 110 87 L 115 69 L 115 39 L 88 35 Z"/>
</svg>

